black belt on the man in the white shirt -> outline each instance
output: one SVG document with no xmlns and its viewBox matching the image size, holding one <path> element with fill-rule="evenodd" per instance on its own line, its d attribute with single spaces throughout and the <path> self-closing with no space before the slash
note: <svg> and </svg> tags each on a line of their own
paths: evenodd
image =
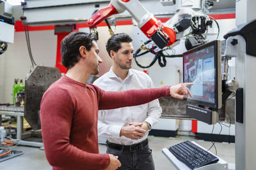
<svg viewBox="0 0 256 170">
<path fill-rule="evenodd" d="M 113 148 L 115 150 L 123 150 L 124 152 L 136 152 L 139 150 L 143 150 L 145 146 L 148 145 L 148 139 L 145 139 L 141 143 L 136 143 L 134 145 L 118 145 L 116 143 L 110 143 L 107 141 L 107 146 L 109 148 Z"/>
</svg>

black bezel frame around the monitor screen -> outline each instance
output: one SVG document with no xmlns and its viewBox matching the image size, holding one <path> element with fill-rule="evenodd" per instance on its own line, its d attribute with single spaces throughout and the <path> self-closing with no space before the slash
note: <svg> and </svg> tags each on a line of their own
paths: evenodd
<svg viewBox="0 0 256 170">
<path fill-rule="evenodd" d="M 205 107 L 209 107 L 209 108 L 221 108 L 221 42 L 220 40 L 214 40 L 211 41 L 209 43 L 206 43 L 204 45 L 200 45 L 197 46 L 187 52 L 183 53 L 183 57 L 182 57 L 182 62 L 183 62 L 183 82 L 186 83 L 184 81 L 184 56 L 188 55 L 189 53 L 193 53 L 199 50 L 202 50 L 204 48 L 207 48 L 208 46 L 212 46 L 214 45 L 214 68 L 215 68 L 215 93 L 214 93 L 214 98 L 215 98 L 215 103 L 209 103 L 209 102 L 205 102 L 205 101 L 198 101 L 195 100 L 193 98 L 188 98 L 188 102 L 189 103 L 193 103 L 193 104 L 198 104 L 200 106 L 205 106 Z M 189 82 L 190 83 L 190 82 Z"/>
</svg>

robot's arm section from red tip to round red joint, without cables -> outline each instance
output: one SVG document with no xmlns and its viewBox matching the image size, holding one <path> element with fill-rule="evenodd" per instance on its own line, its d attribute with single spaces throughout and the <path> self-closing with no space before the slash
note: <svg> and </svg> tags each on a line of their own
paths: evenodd
<svg viewBox="0 0 256 170">
<path fill-rule="evenodd" d="M 111 0 L 105 8 L 97 11 L 87 24 L 92 32 L 95 31 L 97 24 L 111 15 L 122 13 L 125 10 L 131 13 L 132 17 L 138 22 L 141 31 L 159 48 L 172 45 L 176 40 L 176 34 L 170 27 L 165 27 L 152 13 L 149 13 L 138 0 Z"/>
</svg>

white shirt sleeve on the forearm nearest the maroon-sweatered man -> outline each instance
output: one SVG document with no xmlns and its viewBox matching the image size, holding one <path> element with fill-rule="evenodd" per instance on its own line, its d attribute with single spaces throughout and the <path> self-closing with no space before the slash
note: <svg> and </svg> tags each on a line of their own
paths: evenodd
<svg viewBox="0 0 256 170">
<path fill-rule="evenodd" d="M 104 110 L 99 111 L 98 116 L 98 135 L 99 136 L 106 136 L 111 138 L 120 138 L 120 131 L 122 129 L 122 126 L 120 125 L 109 125 L 104 124 L 105 112 Z"/>
</svg>

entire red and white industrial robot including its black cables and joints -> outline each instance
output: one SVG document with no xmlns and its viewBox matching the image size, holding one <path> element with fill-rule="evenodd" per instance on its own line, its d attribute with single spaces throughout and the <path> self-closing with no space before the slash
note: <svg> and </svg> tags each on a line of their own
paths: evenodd
<svg viewBox="0 0 256 170">
<path fill-rule="evenodd" d="M 149 13 L 138 0 L 112 0 L 107 7 L 101 8 L 94 13 L 87 21 L 87 24 L 92 34 L 97 36 L 96 26 L 102 22 L 102 20 L 106 20 L 106 18 L 111 15 L 123 13 L 125 10 L 129 11 L 134 20 L 138 23 L 137 26 L 140 30 L 147 38 L 150 38 L 150 40 L 143 43 L 143 45 L 136 50 L 136 53 L 134 53 L 136 64 L 139 67 L 148 68 L 158 60 L 159 66 L 164 67 L 166 66 L 166 57 L 182 57 L 182 55 L 168 55 L 168 52 L 166 54 L 167 50 L 179 44 L 181 38 L 186 38 L 185 46 L 187 50 L 207 42 L 207 30 L 208 27 L 212 27 L 212 20 L 214 20 L 214 18 L 202 13 L 200 1 L 195 0 L 193 2 L 198 5 L 192 6 L 191 8 L 191 6 L 187 7 L 186 4 L 179 1 L 177 13 L 163 24 L 152 13 Z M 195 11 L 195 9 L 197 11 Z M 216 20 L 214 21 L 216 22 Z M 218 25 L 217 22 L 216 24 Z M 147 47 L 147 44 L 151 41 L 154 42 L 154 44 Z M 177 42 L 175 43 L 175 41 Z M 173 45 L 173 43 L 175 44 Z M 168 46 L 168 48 L 164 48 L 166 46 Z M 160 50 L 156 50 L 156 48 L 160 48 Z M 141 52 L 143 50 L 144 52 Z M 148 52 L 153 53 L 155 57 L 148 66 L 142 66 L 136 58 Z"/>
</svg>

